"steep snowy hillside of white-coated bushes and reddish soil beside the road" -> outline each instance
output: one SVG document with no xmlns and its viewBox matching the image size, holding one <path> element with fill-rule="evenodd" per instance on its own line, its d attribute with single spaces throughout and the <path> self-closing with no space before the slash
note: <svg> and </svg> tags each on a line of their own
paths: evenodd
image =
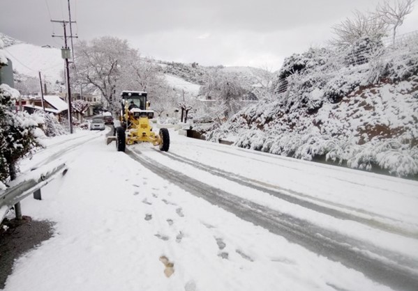
<svg viewBox="0 0 418 291">
<path fill-rule="evenodd" d="M 290 56 L 276 77 L 276 99 L 237 113 L 209 138 L 417 178 L 418 38 L 411 36 L 375 56 L 364 49 Z"/>
</svg>

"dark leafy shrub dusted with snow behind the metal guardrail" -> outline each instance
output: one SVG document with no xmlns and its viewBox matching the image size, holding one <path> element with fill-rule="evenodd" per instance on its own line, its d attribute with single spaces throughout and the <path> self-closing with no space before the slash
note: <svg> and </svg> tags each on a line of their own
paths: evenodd
<svg viewBox="0 0 418 291">
<path fill-rule="evenodd" d="M 19 92 L 0 85 L 0 181 L 15 178 L 17 162 L 38 146 L 39 123 L 26 112 L 12 111 Z"/>
</svg>

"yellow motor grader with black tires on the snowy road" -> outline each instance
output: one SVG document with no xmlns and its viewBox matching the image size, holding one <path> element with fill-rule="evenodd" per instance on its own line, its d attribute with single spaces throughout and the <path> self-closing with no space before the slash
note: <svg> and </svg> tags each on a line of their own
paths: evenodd
<svg viewBox="0 0 418 291">
<path fill-rule="evenodd" d="M 126 145 L 140 142 L 152 143 L 165 152 L 170 148 L 167 128 L 161 128 L 158 134 L 152 131 L 149 120 L 154 118 L 154 111 L 148 107 L 147 92 L 122 91 L 119 111 L 121 126 L 115 128 L 113 136 L 119 152 L 124 152 Z"/>
</svg>

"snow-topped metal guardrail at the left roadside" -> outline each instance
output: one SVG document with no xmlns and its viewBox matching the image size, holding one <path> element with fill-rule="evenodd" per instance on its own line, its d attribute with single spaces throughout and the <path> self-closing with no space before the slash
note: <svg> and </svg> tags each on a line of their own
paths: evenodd
<svg viewBox="0 0 418 291">
<path fill-rule="evenodd" d="M 65 175 L 67 171 L 66 164 L 60 164 L 54 166 L 54 168 L 33 169 L 33 171 L 20 176 L 17 180 L 11 181 L 8 189 L 0 191 L 0 223 L 12 207 L 15 207 L 16 218 L 21 219 L 20 201 L 30 194 L 40 200 L 40 189 L 57 178 L 59 174 Z"/>
</svg>

